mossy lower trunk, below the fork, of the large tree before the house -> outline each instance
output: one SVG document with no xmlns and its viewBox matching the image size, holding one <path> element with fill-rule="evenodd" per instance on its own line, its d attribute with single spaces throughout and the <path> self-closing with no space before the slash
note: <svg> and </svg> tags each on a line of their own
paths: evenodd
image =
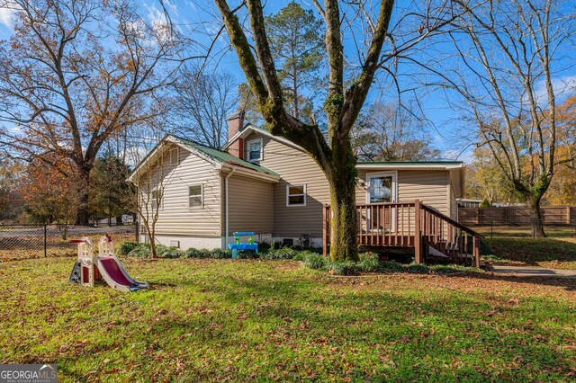
<svg viewBox="0 0 576 383">
<path fill-rule="evenodd" d="M 334 146 L 330 169 L 330 258 L 332 261 L 356 261 L 356 157 L 350 145 Z"/>
</svg>

